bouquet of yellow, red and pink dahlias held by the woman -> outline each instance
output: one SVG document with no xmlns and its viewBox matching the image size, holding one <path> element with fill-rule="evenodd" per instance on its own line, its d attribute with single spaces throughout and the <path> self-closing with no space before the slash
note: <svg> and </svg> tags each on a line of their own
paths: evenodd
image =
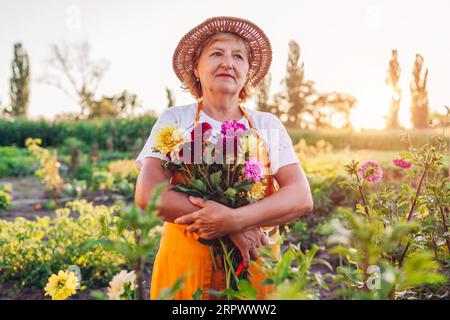
<svg viewBox="0 0 450 320">
<path fill-rule="evenodd" d="M 266 186 L 267 146 L 254 129 L 237 121 L 225 121 L 220 132 L 199 123 L 190 133 L 176 125 L 160 129 L 153 151 L 166 159 L 162 166 L 174 172 L 174 189 L 204 200 L 238 208 L 261 200 Z M 214 268 L 223 259 L 227 288 L 236 289 L 246 279 L 242 257 L 228 236 L 198 239 L 210 248 Z"/>
</svg>

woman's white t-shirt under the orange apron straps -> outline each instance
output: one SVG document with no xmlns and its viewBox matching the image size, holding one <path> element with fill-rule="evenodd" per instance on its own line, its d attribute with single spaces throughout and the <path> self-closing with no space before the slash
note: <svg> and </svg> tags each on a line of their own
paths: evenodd
<svg viewBox="0 0 450 320">
<path fill-rule="evenodd" d="M 142 160 L 148 157 L 164 159 L 164 156 L 161 153 L 152 151 L 152 148 L 155 145 L 156 133 L 161 127 L 177 124 L 178 127 L 189 136 L 194 127 L 196 111 L 197 103 L 171 107 L 164 111 L 153 126 L 147 142 L 136 159 L 138 167 L 141 168 Z M 260 137 L 266 141 L 269 147 L 271 171 L 273 174 L 276 174 L 278 169 L 283 166 L 292 163 L 300 163 L 294 152 L 292 140 L 278 117 L 268 112 L 247 108 L 246 111 Z M 222 123 L 208 116 L 203 110 L 200 110 L 199 122 L 208 122 L 212 126 L 213 133 L 220 132 Z M 243 116 L 239 122 L 244 124 L 247 128 L 250 127 L 245 116 Z"/>
</svg>

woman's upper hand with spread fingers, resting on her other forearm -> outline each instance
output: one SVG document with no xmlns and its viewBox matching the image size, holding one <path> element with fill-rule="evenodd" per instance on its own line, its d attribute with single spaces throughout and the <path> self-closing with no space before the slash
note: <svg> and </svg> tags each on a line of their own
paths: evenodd
<svg viewBox="0 0 450 320">
<path fill-rule="evenodd" d="M 240 230 L 235 210 L 218 202 L 189 197 L 200 210 L 181 216 L 176 224 L 189 224 L 188 232 L 197 233 L 203 239 L 215 239 Z"/>
</svg>

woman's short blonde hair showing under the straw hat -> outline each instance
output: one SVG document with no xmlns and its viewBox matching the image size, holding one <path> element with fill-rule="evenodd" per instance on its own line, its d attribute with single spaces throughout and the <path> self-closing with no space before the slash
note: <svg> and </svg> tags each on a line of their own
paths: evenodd
<svg viewBox="0 0 450 320">
<path fill-rule="evenodd" d="M 192 59 L 193 62 L 193 68 L 195 69 L 198 66 L 198 62 L 200 60 L 200 57 L 202 55 L 202 52 L 205 48 L 207 48 L 212 43 L 222 40 L 225 38 L 225 36 L 233 36 L 239 40 L 241 40 L 244 45 L 245 49 L 247 51 L 247 60 L 250 65 L 251 61 L 251 49 L 247 41 L 245 41 L 242 37 L 238 36 L 237 34 L 231 33 L 231 32 L 218 32 L 207 38 L 200 46 L 195 50 L 194 57 Z M 201 97 L 203 97 L 203 90 L 202 85 L 200 81 L 197 81 L 197 77 L 195 76 L 194 70 L 186 75 L 183 85 L 181 87 L 184 90 L 189 91 L 192 96 L 194 96 L 195 99 L 199 100 Z M 249 84 L 248 81 L 245 82 L 244 87 L 239 92 L 239 102 L 247 101 L 253 94 L 252 91 L 253 87 Z"/>
</svg>

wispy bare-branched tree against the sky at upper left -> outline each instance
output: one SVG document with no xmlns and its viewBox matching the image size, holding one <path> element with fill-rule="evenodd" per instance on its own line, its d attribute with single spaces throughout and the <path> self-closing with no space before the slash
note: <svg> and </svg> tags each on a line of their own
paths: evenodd
<svg viewBox="0 0 450 320">
<path fill-rule="evenodd" d="M 105 60 L 92 60 L 91 48 L 87 42 L 51 46 L 50 58 L 46 61 L 47 74 L 39 81 L 54 86 L 79 104 L 78 118 L 87 117 L 89 103 L 95 101 L 97 88 L 103 79 L 109 63 Z M 95 107 L 94 107 L 95 108 Z"/>
</svg>

